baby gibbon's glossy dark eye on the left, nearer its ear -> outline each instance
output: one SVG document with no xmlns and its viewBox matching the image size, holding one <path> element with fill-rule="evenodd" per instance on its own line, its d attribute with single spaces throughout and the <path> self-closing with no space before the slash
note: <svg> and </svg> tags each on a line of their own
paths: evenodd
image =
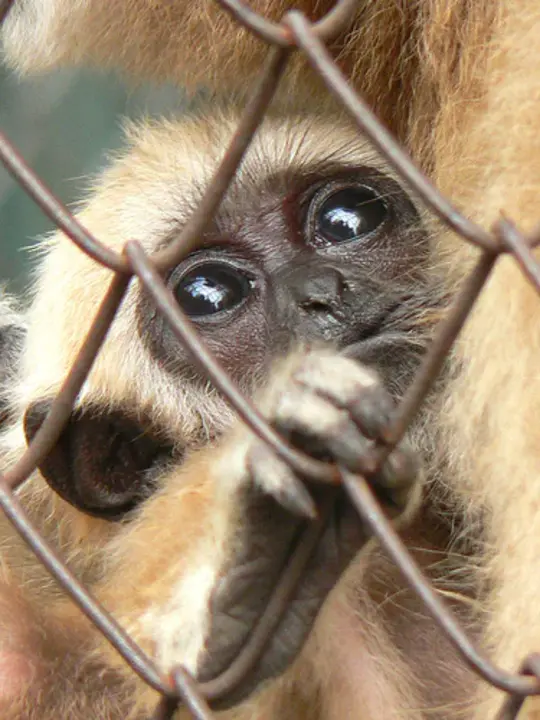
<svg viewBox="0 0 540 720">
<path fill-rule="evenodd" d="M 203 317 L 240 305 L 250 295 L 254 281 L 241 270 L 218 262 L 193 268 L 180 280 L 174 294 L 190 317 Z"/>
</svg>

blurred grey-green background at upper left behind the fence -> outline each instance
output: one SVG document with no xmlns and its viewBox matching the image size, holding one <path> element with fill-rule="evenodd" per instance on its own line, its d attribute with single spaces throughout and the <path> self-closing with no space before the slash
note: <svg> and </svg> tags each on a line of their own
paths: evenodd
<svg viewBox="0 0 540 720">
<path fill-rule="evenodd" d="M 185 110 L 170 86 L 129 87 L 114 75 L 62 71 L 21 80 L 0 61 L 0 129 L 63 202 L 81 196 L 84 179 L 122 144 L 121 119 Z M 0 284 L 24 293 L 31 247 L 52 223 L 0 164 Z"/>
</svg>

